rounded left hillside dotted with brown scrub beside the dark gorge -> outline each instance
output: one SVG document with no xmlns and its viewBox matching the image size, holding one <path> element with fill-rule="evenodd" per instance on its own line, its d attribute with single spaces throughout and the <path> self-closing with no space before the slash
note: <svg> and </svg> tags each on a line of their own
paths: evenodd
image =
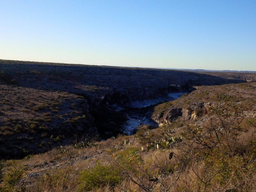
<svg viewBox="0 0 256 192">
<path fill-rule="evenodd" d="M 0 90 L 0 158 L 43 152 L 59 141 L 57 136 L 63 141 L 78 134 L 77 126 L 89 128 L 87 103 L 80 96 L 8 85 Z"/>
</svg>

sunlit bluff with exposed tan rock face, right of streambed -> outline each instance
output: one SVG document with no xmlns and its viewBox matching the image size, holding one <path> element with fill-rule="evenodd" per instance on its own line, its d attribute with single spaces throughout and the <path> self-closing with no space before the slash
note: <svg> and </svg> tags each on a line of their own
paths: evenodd
<svg viewBox="0 0 256 192">
<path fill-rule="evenodd" d="M 198 86 L 190 94 L 182 95 L 178 102 L 171 101 L 156 106 L 152 119 L 158 124 L 171 123 L 177 118 L 196 121 L 206 115 L 210 106 L 220 101 L 243 103 L 244 110 L 255 117 L 255 94 L 255 83 L 218 85 L 214 88 Z"/>
</svg>

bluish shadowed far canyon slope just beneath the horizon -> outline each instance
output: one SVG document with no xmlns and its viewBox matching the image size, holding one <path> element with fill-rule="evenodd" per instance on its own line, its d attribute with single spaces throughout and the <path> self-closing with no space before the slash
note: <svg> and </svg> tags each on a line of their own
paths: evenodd
<svg viewBox="0 0 256 192">
<path fill-rule="evenodd" d="M 189 89 L 193 85 L 242 83 L 255 75 L 242 73 L 194 73 L 164 69 L 120 68 L 0 60 L 0 71 L 9 83 L 21 87 L 54 90 L 104 97 L 115 92 L 129 100 L 163 95 L 173 87 Z"/>
</svg>

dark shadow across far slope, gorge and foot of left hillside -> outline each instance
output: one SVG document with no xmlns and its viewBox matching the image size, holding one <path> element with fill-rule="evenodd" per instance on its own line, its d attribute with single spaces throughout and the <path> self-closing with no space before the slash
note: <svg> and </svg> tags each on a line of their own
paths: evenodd
<svg viewBox="0 0 256 192">
<path fill-rule="evenodd" d="M 49 131 L 49 133 L 47 132 L 47 140 L 40 139 L 46 131 L 38 132 L 39 135 L 35 134 L 34 136 L 36 148 L 41 145 L 36 141 L 36 138 L 40 142 L 45 140 L 44 143 L 49 143 L 49 140 L 58 142 L 59 135 L 64 135 L 66 138 L 71 135 L 70 139 L 72 139 L 75 134 L 83 135 L 85 133 L 85 131 L 74 132 L 77 128 L 81 129 L 80 127 L 86 130 L 89 126 L 96 126 L 103 139 L 117 135 L 120 133 L 120 127 L 126 121 L 126 117 L 123 113 L 114 111 L 111 105 L 118 104 L 125 107 L 130 101 L 157 98 L 167 92 L 181 90 L 191 92 L 192 87 L 195 85 L 246 82 L 243 80 L 245 76 L 241 76 L 241 73 L 230 77 L 224 73 L 214 73 L 215 76 L 207 73 L 176 70 L 47 64 L 8 60 L 0 60 L 0 72 L 4 75 L 0 77 L 0 84 L 14 83 L 20 87 L 45 90 L 47 92 L 70 92 L 82 95 L 88 101 L 89 108 L 86 107 L 84 109 L 84 114 L 87 116 L 90 114 L 93 117 L 89 119 L 90 122 L 83 122 L 80 119 L 77 123 L 74 119 L 74 121 L 68 120 L 68 127 L 67 124 L 56 125 L 56 128 Z M 89 114 L 87 114 L 87 109 Z M 64 126 L 65 129 L 63 129 Z M 54 137 L 49 139 L 48 137 L 51 137 L 51 135 Z M 5 153 L 7 156 L 10 154 L 10 156 L 5 156 L 4 158 L 14 158 L 15 154 L 19 153 L 21 155 L 16 158 L 22 158 L 30 154 L 30 152 L 27 153 L 26 151 L 23 153 L 22 148 L 19 148 L 20 143 L 22 145 L 25 143 L 23 138 L 28 140 L 30 137 L 22 135 L 21 140 L 17 138 L 15 141 L 17 143 L 15 143 L 13 151 L 11 150 L 12 152 L 9 149 L 8 151 L 2 151 L 2 153 L 0 151 L 1 154 Z M 62 140 L 65 140 L 64 137 Z M 36 148 L 32 153 L 41 152 L 40 150 L 36 151 Z"/>
</svg>

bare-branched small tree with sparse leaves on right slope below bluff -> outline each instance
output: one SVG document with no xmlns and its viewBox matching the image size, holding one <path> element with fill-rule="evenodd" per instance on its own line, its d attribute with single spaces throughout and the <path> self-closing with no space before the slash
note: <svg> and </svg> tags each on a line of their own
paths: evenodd
<svg viewBox="0 0 256 192">
<path fill-rule="evenodd" d="M 197 147 L 213 149 L 220 147 L 223 143 L 234 143 L 239 132 L 247 131 L 241 126 L 244 115 L 242 107 L 232 102 L 216 103 L 204 108 L 207 124 L 204 126 L 188 125 L 182 135 L 198 144 Z"/>
</svg>

